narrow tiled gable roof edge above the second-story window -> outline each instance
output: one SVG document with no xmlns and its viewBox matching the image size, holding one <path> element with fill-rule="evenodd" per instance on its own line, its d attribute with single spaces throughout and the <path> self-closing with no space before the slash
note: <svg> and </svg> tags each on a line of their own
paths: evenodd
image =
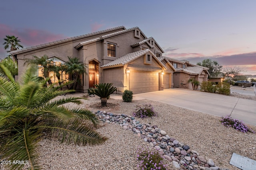
<svg viewBox="0 0 256 170">
<path fill-rule="evenodd" d="M 98 37 L 98 38 L 94 38 L 94 39 L 90 39 L 90 40 L 88 40 L 88 41 L 84 41 L 84 42 L 78 43 L 78 44 L 75 45 L 74 47 L 75 47 L 76 49 L 78 49 L 78 48 L 81 47 L 82 45 L 86 45 L 86 44 L 90 44 L 90 43 L 93 43 L 93 42 L 96 42 L 96 41 L 100 41 L 100 40 L 102 40 L 102 39 L 105 39 L 105 38 L 108 38 L 108 37 L 112 37 L 112 36 L 114 36 L 114 35 L 118 35 L 118 34 L 121 34 L 121 33 L 125 33 L 125 32 L 128 32 L 128 31 L 133 31 L 133 30 L 135 30 L 135 29 L 139 29 L 139 30 L 140 30 L 139 27 L 133 27 L 133 28 L 129 28 L 129 29 L 124 29 L 124 30 L 122 30 L 122 31 L 117 31 L 117 32 L 114 32 L 114 33 L 102 35 L 102 36 L 100 36 L 100 37 Z M 146 35 L 145 35 L 141 30 L 140 30 L 140 33 L 142 33 L 142 35 L 143 35 L 144 37 L 146 37 Z M 147 38 L 147 37 L 146 37 L 146 38 Z M 151 47 L 152 47 L 152 46 L 151 46 Z"/>
</svg>

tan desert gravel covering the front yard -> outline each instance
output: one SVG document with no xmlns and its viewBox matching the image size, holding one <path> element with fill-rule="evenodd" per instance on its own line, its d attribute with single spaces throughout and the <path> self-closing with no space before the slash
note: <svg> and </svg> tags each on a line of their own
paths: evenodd
<svg viewBox="0 0 256 170">
<path fill-rule="evenodd" d="M 68 94 L 67 96 L 71 96 Z M 235 94 L 234 94 L 235 95 Z M 83 96 L 76 93 L 74 96 Z M 64 96 L 58 96 L 59 98 Z M 238 96 L 239 97 L 239 96 Z M 190 146 L 206 160 L 212 159 L 223 170 L 239 170 L 229 164 L 232 153 L 256 160 L 256 134 L 242 133 L 226 128 L 220 117 L 191 111 L 150 100 L 108 100 L 108 107 L 100 108 L 100 98 L 89 97 L 82 104 L 66 104 L 67 107 L 82 107 L 91 111 L 106 111 L 132 116 L 137 105 L 151 104 L 158 116 L 146 119 L 136 117 L 141 123 L 157 125 L 170 137 Z M 214 110 L 213 110 L 214 111 Z M 226 116 L 226 113 L 223 113 Z M 232 116 L 232 115 L 231 115 Z M 108 137 L 103 145 L 74 146 L 60 144 L 56 139 L 43 139 L 39 143 L 39 162 L 43 170 L 136 170 L 136 150 L 138 146 L 149 146 L 137 133 L 123 129 L 116 124 L 101 123 L 98 131 Z M 248 125 L 254 131 L 255 126 Z M 176 169 L 170 161 L 168 169 Z M 0 167 L 1 168 L 1 167 Z"/>
</svg>

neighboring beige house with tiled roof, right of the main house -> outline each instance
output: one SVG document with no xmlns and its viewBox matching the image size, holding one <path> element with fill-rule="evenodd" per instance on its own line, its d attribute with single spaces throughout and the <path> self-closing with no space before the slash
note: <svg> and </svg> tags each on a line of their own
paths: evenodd
<svg viewBox="0 0 256 170">
<path fill-rule="evenodd" d="M 173 73 L 173 87 L 174 88 L 186 88 L 193 89 L 192 84 L 188 83 L 190 78 L 198 80 L 200 83 L 207 81 L 208 69 L 203 66 L 190 64 L 186 60 L 177 60 L 169 57 L 162 57 L 169 61 L 170 64 L 175 68 Z"/>
</svg>

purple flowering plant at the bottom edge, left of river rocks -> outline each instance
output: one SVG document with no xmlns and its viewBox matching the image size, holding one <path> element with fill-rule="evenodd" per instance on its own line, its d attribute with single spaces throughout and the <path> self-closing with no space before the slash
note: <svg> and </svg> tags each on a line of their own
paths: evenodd
<svg viewBox="0 0 256 170">
<path fill-rule="evenodd" d="M 137 150 L 137 165 L 139 170 L 167 170 L 167 164 L 163 163 L 164 157 L 157 150 L 150 150 L 148 147 Z"/>
</svg>

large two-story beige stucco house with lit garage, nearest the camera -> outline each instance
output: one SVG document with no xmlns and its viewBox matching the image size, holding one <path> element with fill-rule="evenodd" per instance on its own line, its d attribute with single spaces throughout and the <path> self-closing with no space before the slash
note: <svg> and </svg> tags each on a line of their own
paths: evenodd
<svg viewBox="0 0 256 170">
<path fill-rule="evenodd" d="M 113 83 L 120 92 L 128 89 L 134 94 L 174 85 L 173 64 L 161 58 L 162 48 L 138 27 L 115 27 L 10 53 L 18 60 L 18 78 L 26 69 L 24 59 L 32 59 L 34 55 L 48 55 L 60 63 L 65 63 L 68 56 L 77 57 L 87 66 L 87 74 L 80 76 L 81 83 L 77 87 L 80 92 L 104 82 Z M 38 75 L 42 75 L 40 68 Z M 63 73 L 62 77 L 68 78 L 68 75 Z"/>
</svg>

